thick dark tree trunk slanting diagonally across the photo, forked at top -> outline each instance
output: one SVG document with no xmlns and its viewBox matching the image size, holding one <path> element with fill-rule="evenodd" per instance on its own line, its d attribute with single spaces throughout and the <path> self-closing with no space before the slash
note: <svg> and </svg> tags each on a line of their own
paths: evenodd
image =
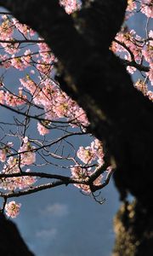
<svg viewBox="0 0 153 256">
<path fill-rule="evenodd" d="M 130 191 L 143 206 L 150 207 L 148 202 L 152 198 L 150 190 L 153 177 L 149 174 L 149 178 L 146 178 L 144 171 L 146 166 L 149 173 L 151 170 L 153 107 L 146 97 L 133 88 L 122 61 L 109 49 L 122 24 L 126 1 L 83 2 L 82 10 L 71 16 L 65 15 L 56 1 L 26 1 L 22 4 L 22 9 L 20 0 L 0 3 L 10 9 L 21 22 L 37 30 L 58 57 L 56 66 L 61 88 L 86 111 L 90 122 L 87 131 L 103 141 L 106 162 L 115 162 L 114 177 L 122 199 Z M 151 2 L 148 1 L 147 4 L 151 8 Z M 115 43 L 118 44 L 118 38 Z M 122 41 L 120 43 L 125 44 Z M 131 51 L 130 47 L 129 50 Z M 143 68 L 151 79 L 149 68 L 142 63 L 138 65 L 134 58 L 127 59 L 124 63 Z M 41 125 L 48 129 L 45 120 L 41 121 Z M 26 139 L 21 147 L 28 147 L 27 143 Z M 8 144 L 7 150 L 9 146 Z M 35 151 L 35 148 L 31 148 L 31 151 Z M 20 158 L 21 154 L 23 153 L 20 153 Z M 97 173 L 101 174 L 105 170 L 106 168 L 100 169 Z M 94 191 L 92 178 L 88 178 L 91 183 L 88 181 L 89 183 L 84 184 L 90 185 L 90 190 Z M 59 179 L 62 180 L 62 177 Z M 63 180 L 62 182 L 65 183 Z"/>
</svg>

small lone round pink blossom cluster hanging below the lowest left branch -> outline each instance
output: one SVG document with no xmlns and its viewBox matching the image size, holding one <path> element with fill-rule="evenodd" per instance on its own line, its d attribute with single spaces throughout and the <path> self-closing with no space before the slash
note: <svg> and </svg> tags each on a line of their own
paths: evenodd
<svg viewBox="0 0 153 256">
<path fill-rule="evenodd" d="M 5 206 L 6 215 L 10 218 L 16 218 L 20 213 L 20 203 L 15 201 L 9 201 Z"/>
</svg>

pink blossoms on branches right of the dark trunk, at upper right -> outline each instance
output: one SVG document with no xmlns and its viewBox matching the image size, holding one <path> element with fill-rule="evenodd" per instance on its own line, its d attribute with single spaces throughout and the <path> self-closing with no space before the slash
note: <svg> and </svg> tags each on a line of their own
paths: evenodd
<svg viewBox="0 0 153 256">
<path fill-rule="evenodd" d="M 153 17 L 152 0 L 128 0 L 127 3 L 126 19 L 129 19 L 131 15 L 136 15 L 138 10 L 146 15 L 148 19 Z M 128 73 L 133 74 L 138 70 L 141 72 L 143 65 L 149 68 L 148 72 L 143 73 L 144 79 L 139 79 L 135 83 L 135 87 L 141 90 L 144 96 L 148 96 L 151 99 L 147 83 L 150 82 L 153 85 L 153 31 L 146 32 L 146 37 L 142 38 L 134 30 L 129 31 L 127 25 L 123 24 L 122 30 L 116 34 L 116 39 L 111 45 L 111 50 L 116 55 L 120 55 L 127 63 L 131 63 L 131 65 L 127 66 Z"/>
</svg>

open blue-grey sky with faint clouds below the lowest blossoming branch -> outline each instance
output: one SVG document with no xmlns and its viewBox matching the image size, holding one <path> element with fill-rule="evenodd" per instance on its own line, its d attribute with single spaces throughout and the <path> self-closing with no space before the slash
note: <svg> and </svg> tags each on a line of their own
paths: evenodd
<svg viewBox="0 0 153 256">
<path fill-rule="evenodd" d="M 129 25 L 141 33 L 143 19 L 141 15 L 138 20 L 132 18 Z M 15 83 L 15 76 L 15 71 L 10 73 L 8 84 Z M 103 205 L 73 185 L 26 195 L 19 200 L 22 207 L 14 222 L 37 256 L 110 256 L 115 240 L 113 218 L 120 206 L 112 179 L 101 196 Z"/>
</svg>

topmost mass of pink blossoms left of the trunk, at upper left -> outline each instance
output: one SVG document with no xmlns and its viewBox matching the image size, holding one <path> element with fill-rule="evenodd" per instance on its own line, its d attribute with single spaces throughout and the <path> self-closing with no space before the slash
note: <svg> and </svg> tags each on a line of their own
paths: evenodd
<svg viewBox="0 0 153 256">
<path fill-rule="evenodd" d="M 20 22 L 14 18 L 10 19 L 7 15 L 2 16 L 3 22 L 0 26 L 0 39 L 9 41 L 10 43 L 2 42 L 0 45 L 6 52 L 6 55 L 0 55 L 3 67 L 9 68 L 14 67 L 20 71 L 24 70 L 26 67 L 34 65 L 37 70 L 41 73 L 50 73 L 52 69 L 52 62 L 56 61 L 54 55 L 51 53 L 48 45 L 45 43 L 37 44 L 38 55 L 33 54 L 30 49 L 26 49 L 25 53 L 19 55 L 20 44 L 18 43 L 18 38 L 14 38 L 14 34 L 17 33 L 19 38 L 25 40 L 31 39 L 35 36 L 36 32 L 32 31 L 29 26 L 25 24 L 20 24 Z M 38 38 L 42 39 L 42 38 Z M 32 55 L 34 58 L 32 58 Z"/>
</svg>

